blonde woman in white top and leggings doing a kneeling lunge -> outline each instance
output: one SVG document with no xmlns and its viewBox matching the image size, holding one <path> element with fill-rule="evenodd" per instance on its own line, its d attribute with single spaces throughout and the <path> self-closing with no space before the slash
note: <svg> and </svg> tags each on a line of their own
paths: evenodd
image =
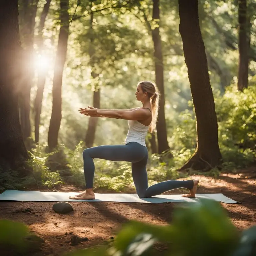
<svg viewBox="0 0 256 256">
<path fill-rule="evenodd" d="M 148 151 L 145 144 L 147 132 L 152 132 L 156 127 L 158 115 L 158 90 L 157 87 L 148 81 L 138 83 L 135 92 L 136 99 L 141 101 L 142 107 L 132 109 L 89 109 L 80 108 L 81 114 L 93 117 L 120 118 L 128 120 L 129 131 L 125 140 L 125 145 L 105 145 L 87 148 L 83 151 L 84 176 L 86 191 L 71 196 L 70 199 L 88 200 L 94 199 L 93 178 L 94 178 L 94 158 L 110 161 L 126 161 L 132 164 L 132 177 L 136 192 L 140 198 L 160 195 L 172 189 L 187 188 L 189 194 L 183 197 L 195 197 L 198 180 L 168 180 L 148 187 L 147 159 Z"/>
</svg>

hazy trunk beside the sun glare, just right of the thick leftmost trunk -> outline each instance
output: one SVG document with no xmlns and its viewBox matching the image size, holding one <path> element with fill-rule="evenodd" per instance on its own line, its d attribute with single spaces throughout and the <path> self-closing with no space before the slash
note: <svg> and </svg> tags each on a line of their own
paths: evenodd
<svg viewBox="0 0 256 256">
<path fill-rule="evenodd" d="M 37 3 L 39 0 L 23 0 L 21 2 L 21 42 L 24 49 L 23 78 L 20 80 L 20 123 L 23 138 L 31 135 L 30 124 L 30 90 L 33 79 L 33 38 Z"/>
</svg>

